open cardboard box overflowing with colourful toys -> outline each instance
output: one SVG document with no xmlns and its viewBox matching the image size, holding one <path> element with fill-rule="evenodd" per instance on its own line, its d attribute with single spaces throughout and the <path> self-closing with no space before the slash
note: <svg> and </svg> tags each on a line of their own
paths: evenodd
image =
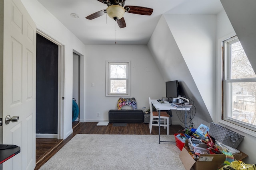
<svg viewBox="0 0 256 170">
<path fill-rule="evenodd" d="M 188 139 L 180 152 L 180 159 L 186 170 L 218 170 L 226 164 L 231 164 L 234 160 L 242 160 L 247 157 L 243 152 L 235 149 L 230 152 L 230 148 L 225 147 L 219 141 L 215 141 L 209 135 L 209 128 L 200 125 L 207 130 L 196 131 L 185 129 L 184 133 Z M 198 132 L 198 131 L 197 131 Z"/>
</svg>

